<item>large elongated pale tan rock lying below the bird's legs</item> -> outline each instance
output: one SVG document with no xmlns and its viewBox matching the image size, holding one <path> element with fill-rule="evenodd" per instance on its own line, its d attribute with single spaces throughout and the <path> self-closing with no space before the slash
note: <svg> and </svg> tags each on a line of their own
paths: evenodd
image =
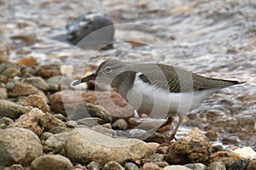
<svg viewBox="0 0 256 170">
<path fill-rule="evenodd" d="M 123 163 L 125 160 L 137 160 L 153 153 L 148 144 L 141 140 L 113 139 L 84 127 L 69 133 L 64 148 L 73 163 L 97 161 L 101 165 L 108 161 Z"/>
</svg>

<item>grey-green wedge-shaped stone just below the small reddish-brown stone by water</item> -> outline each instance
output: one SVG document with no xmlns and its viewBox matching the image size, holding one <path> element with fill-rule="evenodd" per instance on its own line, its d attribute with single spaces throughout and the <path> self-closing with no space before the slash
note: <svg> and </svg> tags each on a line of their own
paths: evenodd
<svg viewBox="0 0 256 170">
<path fill-rule="evenodd" d="M 28 77 L 28 78 L 24 79 L 23 82 L 32 84 L 34 87 L 36 87 L 42 91 L 49 90 L 48 83 L 45 82 L 44 79 L 41 77 Z"/>
</svg>

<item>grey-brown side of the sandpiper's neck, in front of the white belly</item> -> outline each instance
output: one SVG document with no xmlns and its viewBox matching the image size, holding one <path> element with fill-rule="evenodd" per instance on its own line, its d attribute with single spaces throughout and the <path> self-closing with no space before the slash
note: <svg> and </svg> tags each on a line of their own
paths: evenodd
<svg viewBox="0 0 256 170">
<path fill-rule="evenodd" d="M 136 77 L 136 72 L 134 71 L 125 71 L 113 78 L 111 86 L 117 88 L 119 94 L 123 98 L 127 99 L 127 93 L 132 88 L 134 80 Z"/>
</svg>

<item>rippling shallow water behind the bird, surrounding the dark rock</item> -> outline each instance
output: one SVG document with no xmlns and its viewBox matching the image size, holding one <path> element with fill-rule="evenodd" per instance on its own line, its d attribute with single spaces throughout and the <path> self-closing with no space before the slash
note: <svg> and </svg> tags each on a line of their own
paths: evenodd
<svg viewBox="0 0 256 170">
<path fill-rule="evenodd" d="M 91 10 L 108 14 L 117 24 L 117 42 L 112 49 L 77 48 L 52 39 L 65 33 L 68 20 Z M 0 11 L 0 31 L 5 37 L 2 42 L 12 49 L 11 60 L 34 57 L 41 65 L 72 64 L 79 75 L 89 59 L 92 64 L 99 64 L 104 59 L 115 58 L 166 63 L 208 77 L 238 79 L 246 83 L 225 88 L 219 93 L 226 94 L 222 98 L 212 95 L 196 111 L 224 108 L 229 113 L 227 116 L 248 115 L 255 119 L 256 4 L 253 0 L 1 0 Z M 38 41 L 27 44 L 9 38 L 20 34 L 34 34 Z M 132 46 L 124 40 L 146 45 Z M 237 99 L 242 96 L 252 98 Z M 230 108 L 225 101 L 229 101 Z M 246 143 L 255 145 L 256 141 Z"/>
</svg>

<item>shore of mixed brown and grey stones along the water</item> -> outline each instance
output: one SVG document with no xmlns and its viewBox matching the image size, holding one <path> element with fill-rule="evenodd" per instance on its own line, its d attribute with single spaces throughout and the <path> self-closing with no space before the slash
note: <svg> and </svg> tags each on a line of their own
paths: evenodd
<svg viewBox="0 0 256 170">
<path fill-rule="evenodd" d="M 119 94 L 111 92 L 113 103 L 109 103 L 108 93 L 74 89 L 70 86 L 73 77 L 64 75 L 61 65 L 28 65 L 34 59 L 2 60 L 1 169 L 256 169 L 256 152 L 251 147 L 239 149 L 231 138 L 222 139 L 230 144 L 227 148 L 212 143 L 223 129 L 238 132 L 241 139 L 241 127 L 253 135 L 252 119 L 224 120 L 224 113 L 212 110 L 205 118 L 218 120 L 214 129 L 204 129 L 207 133 L 195 127 L 183 138 L 161 144 L 157 143 L 164 141 L 160 137 L 151 142 L 121 138 L 115 130 L 137 125 L 131 121 L 131 106 Z M 235 122 L 240 126 L 234 128 Z"/>
</svg>

